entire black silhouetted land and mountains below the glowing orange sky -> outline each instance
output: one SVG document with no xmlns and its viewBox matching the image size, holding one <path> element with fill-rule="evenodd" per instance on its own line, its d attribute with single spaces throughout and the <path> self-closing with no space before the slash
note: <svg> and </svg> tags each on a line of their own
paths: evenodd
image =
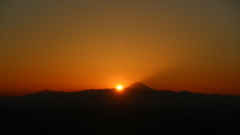
<svg viewBox="0 0 240 135">
<path fill-rule="evenodd" d="M 156 91 L 141 82 L 0 98 L 1 134 L 236 134 L 240 98 Z"/>
</svg>

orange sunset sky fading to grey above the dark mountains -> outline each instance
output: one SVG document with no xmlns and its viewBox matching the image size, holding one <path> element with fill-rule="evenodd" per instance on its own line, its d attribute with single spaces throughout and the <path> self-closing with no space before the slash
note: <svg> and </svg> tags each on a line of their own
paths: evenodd
<svg viewBox="0 0 240 135">
<path fill-rule="evenodd" d="M 1 0 L 0 95 L 143 82 L 240 95 L 238 0 Z"/>
</svg>

